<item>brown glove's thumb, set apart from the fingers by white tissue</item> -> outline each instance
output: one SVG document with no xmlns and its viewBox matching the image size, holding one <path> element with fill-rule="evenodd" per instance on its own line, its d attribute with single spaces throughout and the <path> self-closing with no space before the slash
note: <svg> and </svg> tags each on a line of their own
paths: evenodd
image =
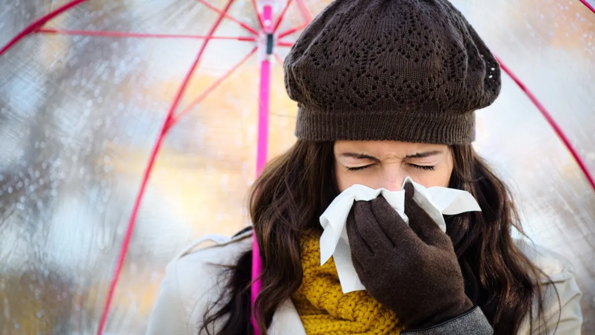
<svg viewBox="0 0 595 335">
<path fill-rule="evenodd" d="M 409 227 L 430 246 L 441 249 L 452 247 L 450 237 L 440 230 L 430 215 L 414 200 L 415 188 L 411 182 L 405 185 L 405 214 L 409 218 Z"/>
</svg>

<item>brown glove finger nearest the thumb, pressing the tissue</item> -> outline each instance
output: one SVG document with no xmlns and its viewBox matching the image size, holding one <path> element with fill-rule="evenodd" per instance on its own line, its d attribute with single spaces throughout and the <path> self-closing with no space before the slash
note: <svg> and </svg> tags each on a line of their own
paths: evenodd
<svg viewBox="0 0 595 335">
<path fill-rule="evenodd" d="M 383 229 L 394 247 L 397 247 L 397 249 L 410 249 L 413 246 L 423 244 L 383 196 L 375 198 L 371 203 L 372 212 L 378 225 Z"/>
</svg>

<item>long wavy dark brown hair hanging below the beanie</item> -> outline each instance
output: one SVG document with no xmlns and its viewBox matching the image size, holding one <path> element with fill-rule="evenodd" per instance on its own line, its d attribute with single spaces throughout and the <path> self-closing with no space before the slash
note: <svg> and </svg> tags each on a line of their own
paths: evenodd
<svg viewBox="0 0 595 335">
<path fill-rule="evenodd" d="M 535 300 L 542 305 L 538 278 L 543 274 L 515 246 L 511 231 L 516 228 L 522 234 L 522 228 L 508 188 L 471 145 L 452 146 L 451 150 L 450 187 L 469 191 L 482 209 L 446 218 L 466 294 L 481 307 L 494 334 L 515 334 L 525 317 L 533 327 L 532 306 Z M 300 237 L 321 229 L 318 218 L 337 194 L 333 142 L 297 141 L 253 185 L 250 217 L 263 261 L 255 316 L 263 333 L 277 307 L 301 283 Z M 226 290 L 206 312 L 201 330 L 217 335 L 253 333 L 251 259 L 252 252 L 246 252 L 236 266 L 227 269 Z M 212 333 L 218 320 L 223 326 Z"/>
</svg>

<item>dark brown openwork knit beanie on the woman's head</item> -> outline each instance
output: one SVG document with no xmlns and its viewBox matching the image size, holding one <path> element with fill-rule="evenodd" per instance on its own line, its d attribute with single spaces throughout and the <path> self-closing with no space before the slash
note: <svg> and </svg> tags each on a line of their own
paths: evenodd
<svg viewBox="0 0 595 335">
<path fill-rule="evenodd" d="M 500 67 L 447 0 L 334 0 L 285 61 L 296 136 L 468 144 Z"/>
</svg>

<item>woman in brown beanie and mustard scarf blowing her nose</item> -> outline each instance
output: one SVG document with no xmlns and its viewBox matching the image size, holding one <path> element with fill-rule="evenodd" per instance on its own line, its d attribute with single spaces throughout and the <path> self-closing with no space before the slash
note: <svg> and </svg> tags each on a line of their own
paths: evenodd
<svg viewBox="0 0 595 335">
<path fill-rule="evenodd" d="M 559 256 L 511 237 L 508 190 L 475 154 L 474 111 L 493 103 L 500 69 L 446 0 L 335 0 L 286 59 L 296 144 L 250 197 L 254 232 L 168 265 L 148 334 L 250 334 L 251 236 L 263 259 L 256 321 L 268 334 L 580 334 L 581 293 Z M 343 294 L 320 265 L 319 217 L 353 184 L 471 193 L 482 212 L 446 218 L 412 201 L 409 225 L 386 200 L 347 219 L 366 291 Z"/>
</svg>

